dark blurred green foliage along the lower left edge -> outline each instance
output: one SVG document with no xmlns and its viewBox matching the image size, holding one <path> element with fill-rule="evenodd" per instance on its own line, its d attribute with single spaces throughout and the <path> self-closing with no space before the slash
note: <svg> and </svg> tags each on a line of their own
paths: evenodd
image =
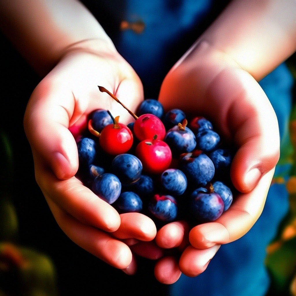
<svg viewBox="0 0 296 296">
<path fill-rule="evenodd" d="M 0 296 L 56 296 L 56 271 L 51 259 L 18 241 L 18 219 L 12 202 L 13 151 L 0 131 Z"/>
</svg>

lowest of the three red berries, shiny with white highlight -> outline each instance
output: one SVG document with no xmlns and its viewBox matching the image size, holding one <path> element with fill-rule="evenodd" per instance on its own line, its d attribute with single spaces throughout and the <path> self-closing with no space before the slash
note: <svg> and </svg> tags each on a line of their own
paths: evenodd
<svg viewBox="0 0 296 296">
<path fill-rule="evenodd" d="M 172 161 L 170 147 L 164 141 L 147 139 L 136 147 L 136 155 L 142 162 L 143 170 L 151 174 L 160 174 L 166 170 Z"/>
</svg>

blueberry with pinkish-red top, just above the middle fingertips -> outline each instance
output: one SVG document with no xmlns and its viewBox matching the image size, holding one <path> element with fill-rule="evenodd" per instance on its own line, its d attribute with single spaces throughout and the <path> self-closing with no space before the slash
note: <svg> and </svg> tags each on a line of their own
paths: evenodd
<svg viewBox="0 0 296 296">
<path fill-rule="evenodd" d="M 155 194 L 149 203 L 149 211 L 162 221 L 173 221 L 177 217 L 177 202 L 170 195 Z"/>
</svg>

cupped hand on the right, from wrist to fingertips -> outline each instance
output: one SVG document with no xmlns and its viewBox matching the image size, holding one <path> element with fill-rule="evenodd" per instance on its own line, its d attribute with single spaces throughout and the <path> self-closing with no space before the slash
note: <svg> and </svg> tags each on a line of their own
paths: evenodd
<svg viewBox="0 0 296 296">
<path fill-rule="evenodd" d="M 277 118 L 255 79 L 207 43 L 193 48 L 173 67 L 163 82 L 159 99 L 166 110 L 177 107 L 187 114 L 205 116 L 237 148 L 231 180 L 241 193 L 218 220 L 190 231 L 192 246 L 184 250 L 179 260 L 184 274 L 197 276 L 207 266 L 201 252 L 208 251 L 208 260 L 211 259 L 220 244 L 239 239 L 259 218 L 279 159 Z M 170 224 L 158 232 L 158 244 L 172 239 L 170 231 L 165 231 L 169 227 Z M 182 236 L 182 228 L 176 228 L 175 237 Z M 161 273 L 165 265 L 158 268 Z M 158 278 L 164 281 L 165 273 L 158 274 Z"/>
</svg>

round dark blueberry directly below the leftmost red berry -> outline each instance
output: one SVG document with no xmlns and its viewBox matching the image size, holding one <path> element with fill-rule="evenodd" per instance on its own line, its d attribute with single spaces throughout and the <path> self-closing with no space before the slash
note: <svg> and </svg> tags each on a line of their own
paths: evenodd
<svg viewBox="0 0 296 296">
<path fill-rule="evenodd" d="M 139 180 L 143 166 L 138 157 L 131 154 L 120 154 L 113 159 L 111 168 L 121 182 L 131 184 Z"/>
</svg>

